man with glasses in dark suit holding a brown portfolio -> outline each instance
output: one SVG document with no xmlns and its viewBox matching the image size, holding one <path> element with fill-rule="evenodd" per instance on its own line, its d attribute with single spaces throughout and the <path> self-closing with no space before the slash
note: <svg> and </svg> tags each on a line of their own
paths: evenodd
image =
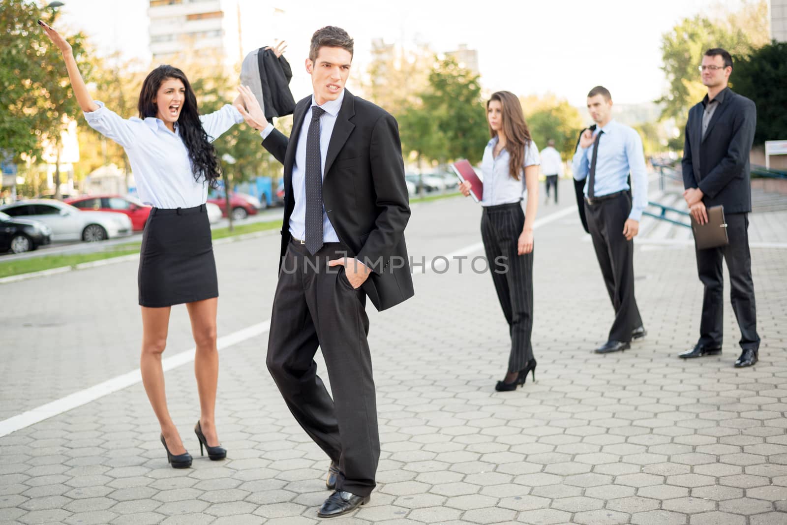
<svg viewBox="0 0 787 525">
<path fill-rule="evenodd" d="M 730 272 L 730 294 L 741 328 L 741 357 L 737 368 L 757 362 L 757 335 L 752 257 L 748 250 L 748 213 L 752 211 L 748 156 L 752 150 L 757 110 L 754 102 L 727 87 L 733 61 L 725 50 L 705 52 L 700 66 L 708 94 L 689 110 L 683 147 L 683 196 L 689 212 L 700 223 L 708 222 L 706 208 L 724 206 L 730 243 L 696 250 L 696 267 L 705 285 L 700 340 L 680 357 L 702 357 L 722 352 L 724 278 L 722 258 Z"/>
</svg>

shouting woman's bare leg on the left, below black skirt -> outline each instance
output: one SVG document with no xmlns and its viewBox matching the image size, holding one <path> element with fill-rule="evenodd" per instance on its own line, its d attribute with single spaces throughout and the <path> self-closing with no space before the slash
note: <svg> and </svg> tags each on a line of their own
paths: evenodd
<svg viewBox="0 0 787 525">
<path fill-rule="evenodd" d="M 161 368 L 161 353 L 167 346 L 170 308 L 147 308 L 142 306 L 142 357 L 139 368 L 142 384 L 161 425 L 161 434 L 174 455 L 186 453 L 180 441 L 178 429 L 172 422 L 167 409 L 167 394 L 164 390 L 164 370 Z"/>
</svg>

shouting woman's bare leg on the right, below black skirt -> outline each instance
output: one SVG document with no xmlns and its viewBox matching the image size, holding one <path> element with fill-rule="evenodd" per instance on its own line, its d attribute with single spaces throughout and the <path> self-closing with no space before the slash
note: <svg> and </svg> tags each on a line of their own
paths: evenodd
<svg viewBox="0 0 787 525">
<path fill-rule="evenodd" d="M 194 375 L 199 390 L 200 427 L 209 446 L 219 446 L 216 434 L 216 383 L 219 381 L 219 350 L 216 348 L 216 309 L 218 298 L 190 302 L 186 305 L 191 332 L 197 343 Z"/>
</svg>

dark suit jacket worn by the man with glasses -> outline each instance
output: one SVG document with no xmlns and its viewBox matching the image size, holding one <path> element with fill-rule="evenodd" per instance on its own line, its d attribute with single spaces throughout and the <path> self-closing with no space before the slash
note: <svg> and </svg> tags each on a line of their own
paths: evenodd
<svg viewBox="0 0 787 525">
<path fill-rule="evenodd" d="M 757 109 L 754 102 L 726 88 L 702 136 L 703 102 L 689 110 L 683 146 L 683 186 L 700 188 L 706 206 L 723 205 L 724 213 L 752 211 L 748 155 L 752 150 Z"/>
</svg>

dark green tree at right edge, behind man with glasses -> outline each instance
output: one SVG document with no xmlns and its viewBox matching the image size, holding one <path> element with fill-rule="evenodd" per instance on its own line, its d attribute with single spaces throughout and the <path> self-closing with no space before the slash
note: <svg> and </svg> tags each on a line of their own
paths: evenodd
<svg viewBox="0 0 787 525">
<path fill-rule="evenodd" d="M 787 43 L 771 43 L 733 68 L 733 87 L 757 105 L 754 142 L 787 138 Z"/>
</svg>

